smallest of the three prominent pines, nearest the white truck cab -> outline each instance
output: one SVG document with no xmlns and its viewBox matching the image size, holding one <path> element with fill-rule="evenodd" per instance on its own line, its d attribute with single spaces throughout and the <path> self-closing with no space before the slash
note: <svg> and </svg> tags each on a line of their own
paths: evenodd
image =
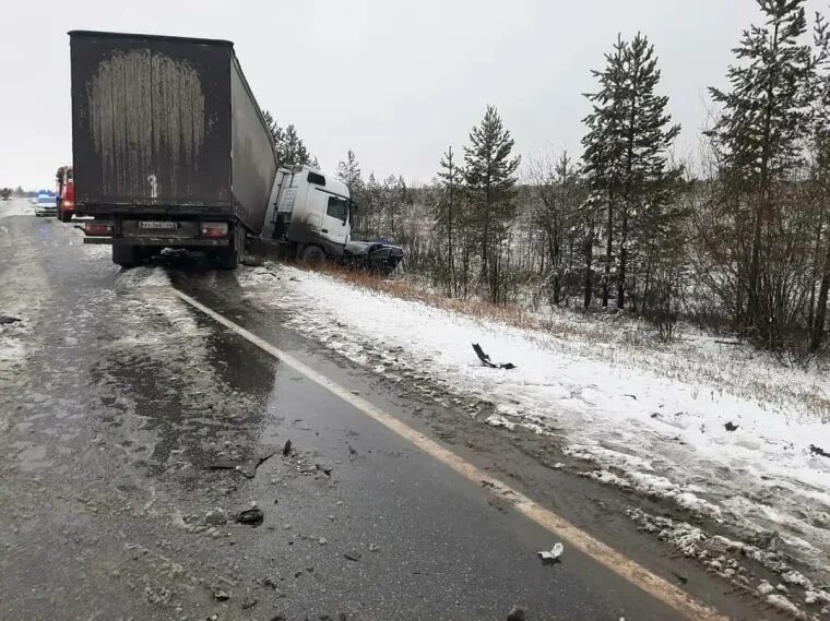
<svg viewBox="0 0 830 621">
<path fill-rule="evenodd" d="M 495 106 L 487 106 L 482 122 L 470 132 L 464 147 L 464 181 L 474 208 L 482 261 L 481 279 L 489 297 L 503 301 L 500 290 L 500 244 L 515 214 L 513 188 L 521 157 L 510 157 L 514 141 Z"/>
</svg>

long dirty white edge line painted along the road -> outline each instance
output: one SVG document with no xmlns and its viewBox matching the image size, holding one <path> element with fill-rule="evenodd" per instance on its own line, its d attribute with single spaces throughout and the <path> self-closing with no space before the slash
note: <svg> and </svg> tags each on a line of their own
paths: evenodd
<svg viewBox="0 0 830 621">
<path fill-rule="evenodd" d="M 598 539 L 593 538 L 591 535 L 560 517 L 549 509 L 542 506 L 499 479 L 494 478 L 473 464 L 465 462 L 453 452 L 444 449 L 391 414 L 388 414 L 365 398 L 355 395 L 352 391 L 341 386 L 322 373 L 315 371 L 307 365 L 294 358 L 290 354 L 286 354 L 282 349 L 274 347 L 269 342 L 245 330 L 242 326 L 226 319 L 201 302 L 198 302 L 187 294 L 182 294 L 178 289 L 174 289 L 174 294 L 217 323 L 224 325 L 263 351 L 278 359 L 284 365 L 287 365 L 298 373 L 305 375 L 316 384 L 348 403 L 369 418 L 380 422 L 387 429 L 394 431 L 401 438 L 408 440 L 430 457 L 449 466 L 470 481 L 489 488 L 494 494 L 512 504 L 517 511 L 543 528 L 549 530 L 552 534 L 555 534 L 557 537 L 565 539 L 571 546 L 579 549 L 584 554 L 588 554 L 601 565 L 609 569 L 615 574 L 627 580 L 629 583 L 648 593 L 659 601 L 662 601 L 679 614 L 683 614 L 686 619 L 695 621 L 728 621 L 728 617 L 724 617 L 718 611 L 695 600 L 689 594 L 679 589 L 672 583 L 663 580 L 609 546 L 606 546 Z"/>
</svg>

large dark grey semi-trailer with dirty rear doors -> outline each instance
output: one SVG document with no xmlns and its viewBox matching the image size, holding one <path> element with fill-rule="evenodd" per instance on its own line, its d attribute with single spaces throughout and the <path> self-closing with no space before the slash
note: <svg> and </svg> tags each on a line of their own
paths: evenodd
<svg viewBox="0 0 830 621">
<path fill-rule="evenodd" d="M 132 265 L 201 248 L 236 267 L 262 229 L 273 138 L 230 41 L 73 31 L 72 157 L 86 243 Z"/>
</svg>

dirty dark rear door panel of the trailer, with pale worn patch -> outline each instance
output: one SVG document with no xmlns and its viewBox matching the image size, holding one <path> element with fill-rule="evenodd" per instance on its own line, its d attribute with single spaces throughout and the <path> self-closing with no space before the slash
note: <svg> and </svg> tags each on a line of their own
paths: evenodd
<svg viewBox="0 0 830 621">
<path fill-rule="evenodd" d="M 227 41 L 71 33 L 79 203 L 227 207 Z"/>
</svg>

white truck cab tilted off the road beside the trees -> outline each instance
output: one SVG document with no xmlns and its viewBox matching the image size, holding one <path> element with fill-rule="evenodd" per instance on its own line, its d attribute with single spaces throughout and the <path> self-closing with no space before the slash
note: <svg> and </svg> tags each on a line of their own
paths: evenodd
<svg viewBox="0 0 830 621">
<path fill-rule="evenodd" d="M 290 246 L 294 258 L 319 262 L 344 253 L 351 235 L 348 188 L 310 166 L 280 168 L 262 230 Z"/>
</svg>

